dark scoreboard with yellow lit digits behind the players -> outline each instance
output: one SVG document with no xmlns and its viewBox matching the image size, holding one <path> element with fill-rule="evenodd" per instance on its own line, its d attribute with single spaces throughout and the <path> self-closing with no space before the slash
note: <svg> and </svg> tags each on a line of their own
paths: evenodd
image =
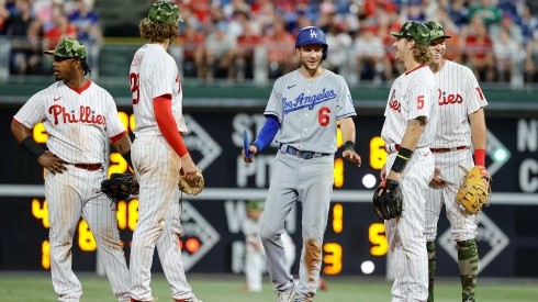
<svg viewBox="0 0 538 302">
<path fill-rule="evenodd" d="M 10 121 L 15 108 L 2 110 Z M 120 108 L 120 116 L 132 134 L 135 126 L 130 108 Z M 183 195 L 180 245 L 186 269 L 197 272 L 242 272 L 245 202 L 264 200 L 271 177 L 277 145 L 271 145 L 246 165 L 240 158 L 243 131 L 255 137 L 265 123 L 261 113 L 193 112 L 186 115 L 189 134 L 184 141 L 205 177 L 204 191 Z M 384 225 L 370 204 L 379 183 L 379 171 L 386 159 L 380 132 L 382 116 L 356 119 L 358 153 L 362 166 L 335 155 L 334 193 L 323 245 L 322 273 L 360 276 L 390 273 Z M 481 214 L 479 253 L 481 275 L 495 277 L 538 277 L 538 120 L 492 118 L 489 127 L 486 166 L 493 176 L 492 205 Z M 49 269 L 48 213 L 44 199 L 43 169 L 11 136 L 0 130 L 4 157 L 0 171 L 0 269 Z M 134 138 L 134 136 L 132 136 Z M 33 138 L 45 143 L 43 125 L 33 130 Z M 338 144 L 341 135 L 338 133 Z M 123 172 L 126 163 L 110 150 L 108 175 Z M 133 230 L 137 222 L 138 200 L 117 203 L 117 222 L 128 257 Z M 301 208 L 288 217 L 287 231 L 300 255 Z M 457 276 L 456 254 L 448 222 L 441 216 L 438 232 L 438 273 Z M 96 270 L 96 242 L 83 220 L 79 222 L 72 245 L 74 269 Z M 293 266 L 296 273 L 298 261 Z M 157 258 L 154 270 L 159 271 Z"/>
</svg>

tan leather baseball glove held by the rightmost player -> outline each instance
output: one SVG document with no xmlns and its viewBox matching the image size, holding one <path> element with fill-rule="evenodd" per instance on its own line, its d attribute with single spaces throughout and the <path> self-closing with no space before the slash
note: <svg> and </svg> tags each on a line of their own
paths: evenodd
<svg viewBox="0 0 538 302">
<path fill-rule="evenodd" d="M 466 172 L 466 176 L 461 180 L 458 193 L 456 193 L 456 200 L 469 214 L 477 214 L 482 206 L 490 205 L 490 174 L 481 166 L 474 166 L 471 170 L 461 166 L 460 168 Z"/>
</svg>

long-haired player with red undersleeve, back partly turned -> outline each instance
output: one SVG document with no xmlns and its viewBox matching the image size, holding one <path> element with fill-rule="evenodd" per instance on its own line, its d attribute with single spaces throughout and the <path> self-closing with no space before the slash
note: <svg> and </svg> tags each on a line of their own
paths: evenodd
<svg viewBox="0 0 538 302">
<path fill-rule="evenodd" d="M 179 35 L 179 9 L 158 1 L 139 23 L 142 46 L 131 63 L 130 82 L 136 120 L 133 165 L 141 190 L 138 223 L 131 246 L 131 297 L 153 301 L 152 260 L 157 247 L 176 302 L 199 301 L 187 282 L 178 244 L 179 177 L 193 179 L 197 167 L 181 138 L 187 132 L 178 66 L 167 48 Z M 180 171 L 181 170 L 181 171 Z"/>
</svg>

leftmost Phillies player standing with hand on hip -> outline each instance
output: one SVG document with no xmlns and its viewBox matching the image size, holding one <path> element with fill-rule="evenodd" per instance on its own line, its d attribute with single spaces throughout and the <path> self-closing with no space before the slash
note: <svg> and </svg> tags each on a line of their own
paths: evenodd
<svg viewBox="0 0 538 302">
<path fill-rule="evenodd" d="M 71 246 L 80 216 L 96 238 L 112 291 L 130 301 L 130 278 L 117 231 L 115 203 L 101 192 L 107 178 L 107 139 L 131 166 L 131 138 L 114 100 L 86 78 L 86 47 L 63 38 L 54 51 L 56 82 L 41 90 L 11 122 L 16 141 L 45 168 L 45 198 L 51 224 L 51 273 L 58 301 L 79 301 L 82 287 L 71 269 Z M 32 127 L 43 122 L 47 150 L 32 138 Z"/>
</svg>

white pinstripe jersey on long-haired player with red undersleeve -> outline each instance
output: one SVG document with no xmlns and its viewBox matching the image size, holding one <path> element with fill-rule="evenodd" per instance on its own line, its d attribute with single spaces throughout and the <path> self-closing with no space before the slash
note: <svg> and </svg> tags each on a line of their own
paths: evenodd
<svg viewBox="0 0 538 302">
<path fill-rule="evenodd" d="M 171 94 L 171 111 L 178 131 L 187 133 L 182 113 L 183 91 L 178 66 L 160 45 L 146 44 L 136 52 L 131 63 L 130 81 L 136 137 L 161 135 L 155 120 L 153 99 L 162 94 Z"/>
</svg>

